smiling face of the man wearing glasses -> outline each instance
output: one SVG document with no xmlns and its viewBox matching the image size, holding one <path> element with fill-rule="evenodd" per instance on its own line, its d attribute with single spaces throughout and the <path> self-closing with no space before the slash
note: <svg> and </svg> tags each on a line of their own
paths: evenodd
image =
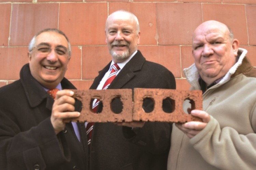
<svg viewBox="0 0 256 170">
<path fill-rule="evenodd" d="M 35 42 L 33 50 L 28 52 L 31 74 L 42 86 L 55 88 L 68 68 L 70 56 L 63 55 L 61 51 L 68 49 L 68 41 L 59 33 L 43 32 Z M 47 49 L 51 49 L 48 54 L 45 52 Z"/>
</svg>

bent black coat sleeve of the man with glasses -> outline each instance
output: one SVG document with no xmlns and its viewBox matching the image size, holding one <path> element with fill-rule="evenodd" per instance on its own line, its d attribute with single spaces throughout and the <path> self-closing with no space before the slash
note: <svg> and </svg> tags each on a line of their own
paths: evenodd
<svg viewBox="0 0 256 170">
<path fill-rule="evenodd" d="M 69 157 L 69 151 L 59 143 L 61 140 L 63 148 L 67 148 L 65 138 L 55 135 L 50 118 L 17 133 L 16 123 L 5 114 L 0 113 L 0 117 L 0 169 L 42 170 L 61 164 Z"/>
</svg>

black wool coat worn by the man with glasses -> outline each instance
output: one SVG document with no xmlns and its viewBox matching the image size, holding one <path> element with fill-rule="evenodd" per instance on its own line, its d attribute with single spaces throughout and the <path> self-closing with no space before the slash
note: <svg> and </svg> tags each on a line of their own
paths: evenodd
<svg viewBox="0 0 256 170">
<path fill-rule="evenodd" d="M 67 80 L 63 89 L 75 89 Z M 85 127 L 79 124 L 81 142 L 71 123 L 55 134 L 50 121 L 53 98 L 32 77 L 29 65 L 20 79 L 0 88 L 1 170 L 86 170 L 88 151 Z M 81 103 L 75 108 L 81 110 Z"/>
</svg>

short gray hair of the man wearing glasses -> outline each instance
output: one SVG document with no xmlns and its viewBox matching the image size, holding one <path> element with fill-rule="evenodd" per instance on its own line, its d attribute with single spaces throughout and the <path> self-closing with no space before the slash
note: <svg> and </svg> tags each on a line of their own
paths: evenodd
<svg viewBox="0 0 256 170">
<path fill-rule="evenodd" d="M 66 36 L 65 33 L 63 33 L 62 31 L 60 31 L 60 30 L 58 30 L 58 29 L 55 29 L 55 28 L 47 28 L 47 29 L 44 29 L 44 30 L 38 32 L 37 34 L 35 34 L 35 36 L 31 39 L 31 41 L 30 41 L 30 43 L 29 43 L 29 45 L 28 45 L 28 51 L 29 51 L 29 52 L 31 52 L 31 51 L 33 50 L 33 48 L 34 48 L 34 45 L 35 45 L 35 43 L 36 43 L 36 42 L 35 42 L 35 38 L 36 38 L 38 35 L 40 35 L 41 33 L 43 33 L 43 32 L 56 32 L 56 33 L 59 33 L 59 34 L 63 35 L 63 36 L 67 39 L 67 41 L 68 41 L 69 57 L 71 56 L 71 44 L 70 44 L 70 41 L 69 41 L 68 37 Z"/>
</svg>

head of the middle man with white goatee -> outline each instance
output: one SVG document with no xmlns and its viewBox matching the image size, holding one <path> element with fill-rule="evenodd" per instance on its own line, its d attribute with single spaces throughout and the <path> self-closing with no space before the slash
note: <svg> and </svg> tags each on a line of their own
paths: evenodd
<svg viewBox="0 0 256 170">
<path fill-rule="evenodd" d="M 125 61 L 137 50 L 140 32 L 136 21 L 127 13 L 109 16 L 106 22 L 106 43 L 115 63 Z"/>
</svg>

